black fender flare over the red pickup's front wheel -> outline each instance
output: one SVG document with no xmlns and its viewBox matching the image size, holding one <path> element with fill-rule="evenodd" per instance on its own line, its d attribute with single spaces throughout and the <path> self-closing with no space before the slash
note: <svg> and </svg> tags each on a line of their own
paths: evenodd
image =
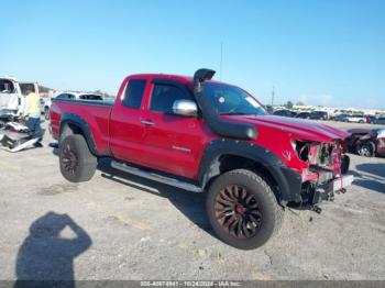
<svg viewBox="0 0 385 288">
<path fill-rule="evenodd" d="M 262 165 L 277 182 L 282 203 L 300 201 L 301 176 L 287 167 L 271 151 L 248 141 L 221 139 L 210 142 L 205 149 L 199 169 L 198 179 L 201 187 L 220 174 L 217 164 L 223 155 L 241 156 Z"/>
</svg>

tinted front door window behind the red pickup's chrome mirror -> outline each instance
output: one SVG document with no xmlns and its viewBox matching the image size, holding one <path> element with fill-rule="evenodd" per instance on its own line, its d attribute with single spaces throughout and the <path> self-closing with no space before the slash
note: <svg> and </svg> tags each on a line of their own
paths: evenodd
<svg viewBox="0 0 385 288">
<path fill-rule="evenodd" d="M 193 97 L 172 85 L 155 85 L 151 97 L 150 110 L 172 114 L 175 100 L 183 99 L 193 100 Z"/>
</svg>

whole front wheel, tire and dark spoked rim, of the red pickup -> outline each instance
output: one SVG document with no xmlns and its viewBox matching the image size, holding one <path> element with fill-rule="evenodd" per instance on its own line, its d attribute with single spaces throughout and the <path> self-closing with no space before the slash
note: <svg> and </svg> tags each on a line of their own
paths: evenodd
<svg viewBox="0 0 385 288">
<path fill-rule="evenodd" d="M 209 188 L 206 209 L 219 239 L 241 250 L 265 244 L 284 215 L 267 181 L 246 169 L 219 176 Z"/>
</svg>

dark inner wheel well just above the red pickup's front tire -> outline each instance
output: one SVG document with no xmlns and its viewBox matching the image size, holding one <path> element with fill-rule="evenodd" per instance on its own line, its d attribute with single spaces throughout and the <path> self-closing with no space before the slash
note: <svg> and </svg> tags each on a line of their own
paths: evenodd
<svg viewBox="0 0 385 288">
<path fill-rule="evenodd" d="M 218 176 L 234 169 L 248 169 L 258 174 L 263 177 L 274 191 L 277 200 L 279 201 L 278 184 L 275 180 L 271 171 L 262 164 L 254 159 L 238 156 L 238 155 L 221 155 L 217 160 L 215 160 L 210 166 L 210 179 L 208 179 L 205 187 L 209 187 L 215 178 Z"/>
</svg>

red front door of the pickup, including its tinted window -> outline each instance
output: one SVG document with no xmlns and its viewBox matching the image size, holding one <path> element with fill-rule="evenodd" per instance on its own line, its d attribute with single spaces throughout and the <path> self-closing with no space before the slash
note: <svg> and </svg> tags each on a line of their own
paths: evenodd
<svg viewBox="0 0 385 288">
<path fill-rule="evenodd" d="M 202 124 L 197 117 L 173 114 L 175 100 L 194 100 L 183 89 L 165 84 L 152 84 L 148 107 L 143 119 L 145 166 L 178 176 L 195 178 L 202 153 Z"/>
</svg>

